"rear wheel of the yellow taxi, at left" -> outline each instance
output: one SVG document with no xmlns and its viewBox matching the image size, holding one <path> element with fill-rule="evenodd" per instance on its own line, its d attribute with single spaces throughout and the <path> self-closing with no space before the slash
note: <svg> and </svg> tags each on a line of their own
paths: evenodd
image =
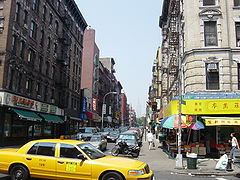
<svg viewBox="0 0 240 180">
<path fill-rule="evenodd" d="M 28 180 L 29 179 L 28 170 L 22 165 L 14 166 L 10 171 L 10 176 L 12 180 Z"/>
</svg>

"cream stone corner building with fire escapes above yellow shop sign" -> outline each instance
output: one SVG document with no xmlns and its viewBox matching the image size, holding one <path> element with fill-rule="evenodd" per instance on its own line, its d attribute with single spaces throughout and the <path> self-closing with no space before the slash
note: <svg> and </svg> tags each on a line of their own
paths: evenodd
<svg viewBox="0 0 240 180">
<path fill-rule="evenodd" d="M 181 113 L 204 123 L 193 136 L 210 133 L 211 152 L 240 130 L 239 13 L 239 0 L 163 1 L 161 108 L 178 114 L 182 94 Z"/>
</svg>

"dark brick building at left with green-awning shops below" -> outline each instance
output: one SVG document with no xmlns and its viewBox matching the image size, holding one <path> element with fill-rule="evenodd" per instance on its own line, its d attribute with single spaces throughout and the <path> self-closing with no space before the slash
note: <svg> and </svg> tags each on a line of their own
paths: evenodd
<svg viewBox="0 0 240 180">
<path fill-rule="evenodd" d="M 73 0 L 0 1 L 0 145 L 77 130 L 86 27 Z"/>
</svg>

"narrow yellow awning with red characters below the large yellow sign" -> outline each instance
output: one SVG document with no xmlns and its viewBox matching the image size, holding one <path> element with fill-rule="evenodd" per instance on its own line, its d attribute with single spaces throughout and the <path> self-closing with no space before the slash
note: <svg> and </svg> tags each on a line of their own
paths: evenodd
<svg viewBox="0 0 240 180">
<path fill-rule="evenodd" d="M 240 125 L 240 117 L 202 117 L 206 126 Z"/>
</svg>

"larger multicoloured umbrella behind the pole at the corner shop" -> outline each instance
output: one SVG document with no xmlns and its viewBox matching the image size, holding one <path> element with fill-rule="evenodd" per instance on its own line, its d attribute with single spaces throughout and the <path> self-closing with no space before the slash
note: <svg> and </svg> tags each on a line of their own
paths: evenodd
<svg viewBox="0 0 240 180">
<path fill-rule="evenodd" d="M 179 118 L 179 115 L 168 116 L 161 121 L 161 126 L 163 128 L 168 128 L 168 129 L 173 129 L 173 128 L 177 129 L 178 128 L 178 118 Z M 182 119 L 181 127 L 187 128 L 187 125 L 184 123 L 184 122 L 186 122 L 186 116 L 181 116 L 181 119 Z"/>
</svg>

